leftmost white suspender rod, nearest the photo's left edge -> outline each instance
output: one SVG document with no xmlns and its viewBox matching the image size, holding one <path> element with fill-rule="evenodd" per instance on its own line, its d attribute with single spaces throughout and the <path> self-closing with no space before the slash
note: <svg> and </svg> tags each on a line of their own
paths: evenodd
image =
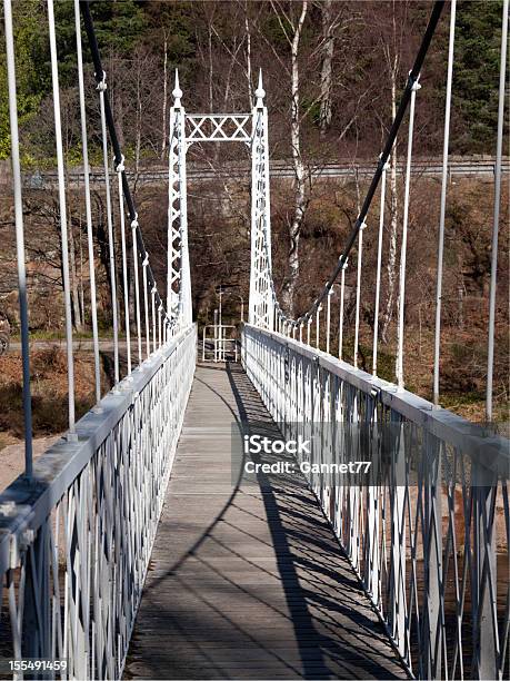
<svg viewBox="0 0 510 681">
<path fill-rule="evenodd" d="M 12 178 L 14 185 L 16 249 L 18 258 L 18 290 L 21 326 L 21 359 L 23 366 L 23 426 L 24 426 L 24 475 L 32 478 L 32 402 L 30 395 L 30 348 L 27 303 L 27 269 L 24 265 L 23 204 L 21 196 L 20 145 L 18 131 L 18 98 L 16 92 L 16 57 L 12 31 L 11 0 L 6 0 L 6 51 L 9 87 L 9 122 L 11 132 Z"/>
</svg>

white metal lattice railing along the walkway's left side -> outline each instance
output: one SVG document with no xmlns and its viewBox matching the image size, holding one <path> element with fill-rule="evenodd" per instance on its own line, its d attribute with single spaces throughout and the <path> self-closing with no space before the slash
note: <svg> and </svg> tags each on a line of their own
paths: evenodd
<svg viewBox="0 0 510 681">
<path fill-rule="evenodd" d="M 180 332 L 77 423 L 77 442 L 37 460 L 32 485 L 0 495 L 3 657 L 67 660 L 52 678 L 122 677 L 196 344 L 194 326 Z"/>
</svg>

